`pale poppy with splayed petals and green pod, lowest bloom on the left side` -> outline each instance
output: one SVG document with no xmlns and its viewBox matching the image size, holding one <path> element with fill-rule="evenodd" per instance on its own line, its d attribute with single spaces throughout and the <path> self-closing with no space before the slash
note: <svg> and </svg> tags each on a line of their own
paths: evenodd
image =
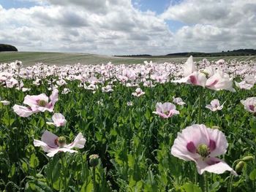
<svg viewBox="0 0 256 192">
<path fill-rule="evenodd" d="M 86 143 L 86 139 L 83 138 L 81 133 L 75 137 L 75 140 L 69 145 L 66 144 L 65 137 L 58 137 L 55 134 L 52 134 L 50 131 L 45 131 L 42 134 L 41 141 L 34 139 L 35 147 L 42 147 L 48 157 L 53 157 L 58 152 L 69 152 L 69 153 L 78 153 L 76 150 L 72 150 L 72 148 L 77 147 L 82 149 Z"/>
</svg>

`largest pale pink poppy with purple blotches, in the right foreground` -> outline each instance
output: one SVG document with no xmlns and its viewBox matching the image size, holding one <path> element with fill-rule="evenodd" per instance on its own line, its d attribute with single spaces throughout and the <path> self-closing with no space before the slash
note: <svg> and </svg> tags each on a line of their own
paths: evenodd
<svg viewBox="0 0 256 192">
<path fill-rule="evenodd" d="M 222 174 L 236 172 L 219 158 L 225 154 L 228 143 L 225 134 L 218 129 L 206 128 L 205 125 L 192 125 L 184 128 L 174 140 L 171 154 L 184 161 L 195 161 L 197 172 L 212 172 Z"/>
</svg>

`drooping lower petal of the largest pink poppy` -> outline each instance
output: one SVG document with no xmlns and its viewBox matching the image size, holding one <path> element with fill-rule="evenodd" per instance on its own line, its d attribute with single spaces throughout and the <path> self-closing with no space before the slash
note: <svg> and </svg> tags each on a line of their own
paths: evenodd
<svg viewBox="0 0 256 192">
<path fill-rule="evenodd" d="M 219 158 L 210 157 L 205 161 L 200 159 L 196 161 L 196 164 L 197 164 L 197 172 L 199 174 L 203 174 L 203 172 L 222 174 L 228 171 L 234 174 L 235 176 L 238 175 L 228 164 L 225 163 L 225 161 L 222 161 Z"/>
</svg>

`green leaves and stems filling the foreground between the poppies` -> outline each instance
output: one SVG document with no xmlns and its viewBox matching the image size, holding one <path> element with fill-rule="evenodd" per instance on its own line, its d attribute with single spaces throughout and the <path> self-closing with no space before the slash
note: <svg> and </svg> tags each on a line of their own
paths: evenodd
<svg viewBox="0 0 256 192">
<path fill-rule="evenodd" d="M 194 183 L 194 162 L 182 161 L 170 154 L 178 131 L 196 123 L 197 87 L 191 85 L 157 85 L 143 88 L 140 98 L 131 95 L 132 88 L 114 82 L 113 93 L 96 93 L 78 88 L 78 81 L 70 81 L 60 89 L 72 90 L 60 94 L 55 112 L 61 112 L 67 125 L 56 128 L 45 120 L 50 112 L 20 118 L 11 106 L 21 104 L 24 94 L 15 89 L 0 88 L 2 99 L 11 106 L 0 105 L 0 190 L 1 191 L 203 191 L 203 179 Z M 46 82 L 36 87 L 24 80 L 31 91 L 27 94 L 47 93 Z M 227 136 L 229 147 L 222 156 L 230 166 L 237 159 L 255 154 L 255 121 L 244 110 L 240 100 L 255 95 L 250 91 L 204 90 L 203 104 L 212 99 L 226 101 L 220 112 L 203 109 L 202 122 L 206 126 L 219 126 Z M 61 93 L 61 91 L 60 91 Z M 181 96 L 185 106 L 177 106 L 180 115 L 162 119 L 152 112 L 157 101 L 171 101 Z M 101 101 L 98 104 L 97 101 Z M 132 101 L 132 106 L 127 106 Z M 40 139 L 43 131 L 66 136 L 72 142 L 78 132 L 86 138 L 86 146 L 78 153 L 58 153 L 48 158 L 33 140 Z M 89 155 L 99 155 L 99 164 L 89 166 Z M 61 161 L 64 155 L 64 163 Z M 238 177 L 233 178 L 233 191 L 255 190 L 255 160 L 246 162 Z M 211 191 L 227 191 L 229 173 L 211 174 Z"/>
</svg>

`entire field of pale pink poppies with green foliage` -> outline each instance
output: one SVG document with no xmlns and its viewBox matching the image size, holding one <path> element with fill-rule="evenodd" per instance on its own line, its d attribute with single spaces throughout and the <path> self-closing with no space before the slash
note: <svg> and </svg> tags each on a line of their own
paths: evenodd
<svg viewBox="0 0 256 192">
<path fill-rule="evenodd" d="M 255 61 L 0 64 L 0 191 L 255 191 Z"/>
</svg>

